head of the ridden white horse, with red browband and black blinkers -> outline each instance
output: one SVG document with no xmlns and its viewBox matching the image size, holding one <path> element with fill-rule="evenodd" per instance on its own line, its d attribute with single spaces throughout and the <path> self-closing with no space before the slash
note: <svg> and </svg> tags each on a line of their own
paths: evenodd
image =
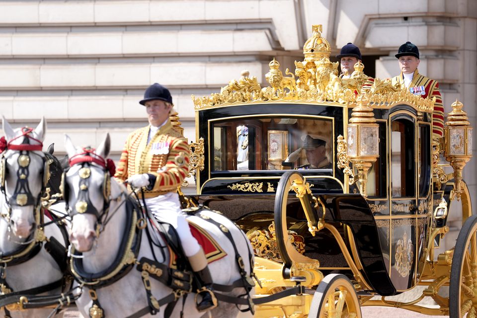
<svg viewBox="0 0 477 318">
<path fill-rule="evenodd" d="M 110 144 L 107 134 L 97 149 L 76 148 L 70 137 L 65 136 L 71 167 L 63 180 L 63 198 L 72 217 L 70 242 L 79 252 L 91 250 L 99 237 L 109 210 L 110 192 L 121 192 L 119 184 L 111 182 L 112 176 L 105 159 Z"/>
</svg>

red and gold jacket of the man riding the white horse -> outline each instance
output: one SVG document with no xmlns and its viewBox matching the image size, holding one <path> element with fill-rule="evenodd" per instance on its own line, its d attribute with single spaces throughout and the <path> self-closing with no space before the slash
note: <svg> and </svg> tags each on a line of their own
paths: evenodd
<svg viewBox="0 0 477 318">
<path fill-rule="evenodd" d="M 148 144 L 149 129 L 150 126 L 143 127 L 128 136 L 114 174 L 123 181 L 134 174 L 156 176 L 154 186 L 144 191 L 146 198 L 176 191 L 189 168 L 189 145 L 172 128 L 170 120 L 151 136 Z"/>
</svg>

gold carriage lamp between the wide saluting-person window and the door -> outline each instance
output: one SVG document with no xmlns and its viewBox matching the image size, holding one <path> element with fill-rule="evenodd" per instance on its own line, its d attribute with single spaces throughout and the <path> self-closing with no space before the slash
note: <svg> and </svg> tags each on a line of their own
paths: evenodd
<svg viewBox="0 0 477 318">
<path fill-rule="evenodd" d="M 347 157 L 358 171 L 350 183 L 359 181 L 359 192 L 366 197 L 368 172 L 379 157 L 379 125 L 365 95 L 358 97 L 347 128 Z"/>
</svg>

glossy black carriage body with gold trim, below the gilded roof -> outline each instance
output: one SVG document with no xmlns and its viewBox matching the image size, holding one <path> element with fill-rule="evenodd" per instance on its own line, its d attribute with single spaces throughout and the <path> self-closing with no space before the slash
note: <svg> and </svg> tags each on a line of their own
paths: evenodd
<svg viewBox="0 0 477 318">
<path fill-rule="evenodd" d="M 348 185 L 348 176 L 337 166 L 337 137 L 346 138 L 351 112 L 351 105 L 327 102 L 241 103 L 197 109 L 196 137 L 204 138 L 205 161 L 204 169 L 198 171 L 198 195 L 193 199 L 221 211 L 245 232 L 266 229 L 274 220 L 275 192 L 287 168 L 276 168 L 277 160 L 270 155 L 270 134 L 282 138 L 286 143 L 282 149 L 289 154 L 300 147 L 294 135 L 297 126 L 329 123 L 330 135 L 323 138 L 327 137 L 332 168 L 298 171 L 324 203 L 326 222 L 339 230 L 372 291 L 393 295 L 417 283 L 423 270 L 419 259 L 426 256 L 427 232 L 434 222 L 433 209 L 444 195 L 433 197 L 431 114 L 408 104 L 374 109 L 380 157 L 368 177 L 369 196 L 364 197 L 355 185 Z M 238 168 L 240 162 L 234 162 L 241 126 L 247 127 L 249 147 L 248 166 L 243 170 Z M 317 218 L 322 216 L 319 208 L 315 213 Z M 293 191 L 287 204 L 287 228 L 305 238 L 305 255 L 318 259 L 324 274 L 352 277 L 329 232 L 324 229 L 315 237 L 310 235 Z"/>
</svg>

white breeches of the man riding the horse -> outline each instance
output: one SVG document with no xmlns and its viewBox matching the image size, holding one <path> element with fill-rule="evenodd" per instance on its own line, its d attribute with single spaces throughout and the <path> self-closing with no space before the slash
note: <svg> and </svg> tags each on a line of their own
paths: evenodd
<svg viewBox="0 0 477 318">
<path fill-rule="evenodd" d="M 146 205 L 159 222 L 169 223 L 174 227 L 185 256 L 189 257 L 197 254 L 200 245 L 190 233 L 189 224 L 181 213 L 177 193 L 169 192 L 154 198 L 147 198 Z"/>
</svg>

